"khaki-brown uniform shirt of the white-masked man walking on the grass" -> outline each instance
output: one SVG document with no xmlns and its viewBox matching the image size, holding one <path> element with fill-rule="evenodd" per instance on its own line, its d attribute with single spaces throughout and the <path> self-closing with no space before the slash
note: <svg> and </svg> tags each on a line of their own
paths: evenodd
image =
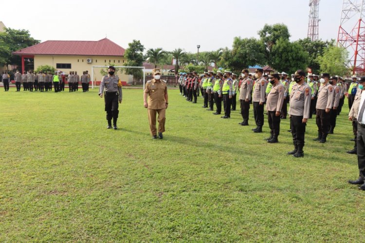
<svg viewBox="0 0 365 243">
<path fill-rule="evenodd" d="M 165 94 L 167 94 L 167 85 L 164 80 L 149 80 L 146 83 L 145 93 L 148 94 L 148 109 L 165 109 Z"/>
</svg>

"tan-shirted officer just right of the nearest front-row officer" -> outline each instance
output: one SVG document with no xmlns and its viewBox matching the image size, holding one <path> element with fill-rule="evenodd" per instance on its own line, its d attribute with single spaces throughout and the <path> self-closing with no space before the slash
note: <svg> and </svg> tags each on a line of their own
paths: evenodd
<svg viewBox="0 0 365 243">
<path fill-rule="evenodd" d="M 321 87 L 318 90 L 318 98 L 316 104 L 317 114 L 315 121 L 318 127 L 318 137 L 313 139 L 320 143 L 325 143 L 329 132 L 329 111 L 333 103 L 333 86 L 329 84 L 329 73 L 322 73 Z"/>
</svg>

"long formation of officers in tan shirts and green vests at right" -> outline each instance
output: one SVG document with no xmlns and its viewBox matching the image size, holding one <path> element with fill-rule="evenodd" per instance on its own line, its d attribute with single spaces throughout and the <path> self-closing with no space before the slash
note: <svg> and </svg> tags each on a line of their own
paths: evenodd
<svg viewBox="0 0 365 243">
<path fill-rule="evenodd" d="M 365 78 L 361 81 L 365 81 Z M 195 71 L 181 72 L 179 78 L 180 94 L 186 101 L 197 103 L 197 96 L 201 94 L 203 108 L 213 111 L 216 104 L 214 115 L 221 114 L 223 102 L 222 119 L 229 119 L 231 111 L 236 110 L 238 95 L 243 119 L 239 125 L 249 125 L 249 110 L 253 104 L 256 127 L 252 130 L 255 133 L 262 132 L 266 104 L 271 134 L 266 140 L 269 143 L 278 142 L 280 120 L 287 119 L 289 115 L 288 132 L 292 132 L 294 150 L 288 154 L 294 157 L 304 156 L 305 128 L 312 115 L 315 115 L 318 127 L 318 137 L 314 140 L 325 143 L 328 134 L 333 134 L 336 118 L 341 113 L 346 96 L 352 116 L 349 120 L 353 122 L 355 135 L 354 149 L 347 153 L 356 154 L 356 110 L 354 112 L 351 107 L 355 100 L 359 100 L 355 99 L 357 87 L 356 76 L 352 76 L 352 82 L 347 84 L 340 76 L 330 77 L 329 73 L 323 73 L 320 77 L 306 74 L 303 70 L 297 70 L 291 78 L 285 72 L 264 75 L 263 69 L 256 69 L 255 75 L 250 74 L 248 69 L 243 69 L 239 75 L 220 70 L 204 72 L 202 75 Z M 287 104 L 290 104 L 289 111 Z"/>
</svg>

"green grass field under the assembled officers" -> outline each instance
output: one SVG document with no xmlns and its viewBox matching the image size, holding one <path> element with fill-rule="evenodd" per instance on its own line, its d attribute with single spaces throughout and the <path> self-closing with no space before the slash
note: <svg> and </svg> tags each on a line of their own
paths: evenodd
<svg viewBox="0 0 365 243">
<path fill-rule="evenodd" d="M 293 158 L 279 143 L 169 90 L 164 139 L 152 140 L 141 89 L 124 89 L 119 130 L 89 93 L 0 91 L 0 242 L 362 242 L 364 195 L 344 105 L 328 142 Z"/>
</svg>

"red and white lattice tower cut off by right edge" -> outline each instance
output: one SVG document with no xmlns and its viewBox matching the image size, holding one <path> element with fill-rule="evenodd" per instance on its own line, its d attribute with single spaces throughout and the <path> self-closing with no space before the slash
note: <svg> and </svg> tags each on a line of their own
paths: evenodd
<svg viewBox="0 0 365 243">
<path fill-rule="evenodd" d="M 337 46 L 350 54 L 348 67 L 353 74 L 365 75 L 365 0 L 344 0 Z"/>
</svg>

